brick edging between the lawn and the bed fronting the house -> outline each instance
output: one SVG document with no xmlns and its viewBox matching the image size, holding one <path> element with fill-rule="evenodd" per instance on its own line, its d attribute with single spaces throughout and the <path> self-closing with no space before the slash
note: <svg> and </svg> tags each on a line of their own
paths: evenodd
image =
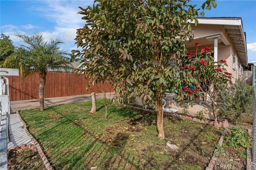
<svg viewBox="0 0 256 170">
<path fill-rule="evenodd" d="M 142 108 L 142 107 L 137 107 L 137 106 L 131 106 L 131 105 L 122 105 L 124 107 L 130 107 L 130 108 L 134 108 L 134 109 L 140 109 L 142 111 L 146 111 L 146 112 L 151 112 L 151 113 L 154 113 L 155 111 L 152 110 L 152 109 L 145 109 L 145 108 Z M 174 116 L 174 117 L 179 117 L 179 118 L 182 118 L 183 120 L 189 120 L 189 121 L 193 121 L 193 122 L 198 122 L 198 123 L 203 123 L 203 124 L 208 124 L 208 125 L 213 125 L 213 126 L 216 126 L 218 128 L 228 128 L 229 127 L 229 123 L 227 120 L 223 121 L 223 122 L 220 122 L 218 124 L 215 124 L 214 121 L 211 121 L 211 120 L 199 120 L 198 118 L 196 118 L 195 116 L 190 116 L 190 115 L 182 115 L 182 114 L 179 114 L 179 113 L 167 113 L 167 112 L 164 112 L 165 115 L 168 115 L 168 116 Z"/>
</svg>

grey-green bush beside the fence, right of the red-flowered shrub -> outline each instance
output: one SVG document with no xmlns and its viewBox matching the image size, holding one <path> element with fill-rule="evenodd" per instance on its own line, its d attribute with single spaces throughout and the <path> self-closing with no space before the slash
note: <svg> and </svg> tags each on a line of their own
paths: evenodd
<svg viewBox="0 0 256 170">
<path fill-rule="evenodd" d="M 228 118 L 233 123 L 252 123 L 253 87 L 243 80 L 237 80 L 221 94 L 219 115 Z M 243 120 L 242 120 L 243 118 Z"/>
</svg>

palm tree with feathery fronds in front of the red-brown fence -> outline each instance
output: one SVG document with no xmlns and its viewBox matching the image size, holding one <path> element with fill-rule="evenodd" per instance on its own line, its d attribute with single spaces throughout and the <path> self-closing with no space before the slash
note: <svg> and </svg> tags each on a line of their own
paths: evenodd
<svg viewBox="0 0 256 170">
<path fill-rule="evenodd" d="M 67 54 L 62 52 L 59 47 L 63 42 L 59 38 L 45 41 L 42 33 L 26 36 L 16 32 L 16 36 L 21 38 L 25 45 L 15 49 L 14 53 L 5 59 L 3 66 L 18 67 L 22 77 L 28 77 L 34 73 L 39 75 L 39 104 L 43 111 L 47 72 L 68 69 Z"/>
</svg>

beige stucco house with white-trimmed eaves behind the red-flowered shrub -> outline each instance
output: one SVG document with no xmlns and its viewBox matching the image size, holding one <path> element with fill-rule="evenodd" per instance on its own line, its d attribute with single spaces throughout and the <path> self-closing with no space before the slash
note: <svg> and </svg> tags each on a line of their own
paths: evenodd
<svg viewBox="0 0 256 170">
<path fill-rule="evenodd" d="M 194 43 L 197 42 L 201 43 L 199 49 L 211 47 L 215 61 L 227 61 L 227 71 L 233 74 L 233 82 L 242 77 L 243 67 L 248 65 L 242 18 L 198 18 L 198 25 L 192 25 L 192 29 L 194 38 L 186 43 L 188 52 L 195 53 Z"/>
</svg>

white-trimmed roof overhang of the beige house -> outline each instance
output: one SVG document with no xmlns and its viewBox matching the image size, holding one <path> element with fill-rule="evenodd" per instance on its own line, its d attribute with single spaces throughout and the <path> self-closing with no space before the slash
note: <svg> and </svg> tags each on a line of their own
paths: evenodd
<svg viewBox="0 0 256 170">
<path fill-rule="evenodd" d="M 195 23 L 195 21 L 192 21 L 192 23 Z M 239 61 L 243 66 L 248 64 L 246 33 L 243 29 L 241 17 L 199 17 L 198 23 L 223 25 L 230 42 L 234 44 Z"/>
</svg>

